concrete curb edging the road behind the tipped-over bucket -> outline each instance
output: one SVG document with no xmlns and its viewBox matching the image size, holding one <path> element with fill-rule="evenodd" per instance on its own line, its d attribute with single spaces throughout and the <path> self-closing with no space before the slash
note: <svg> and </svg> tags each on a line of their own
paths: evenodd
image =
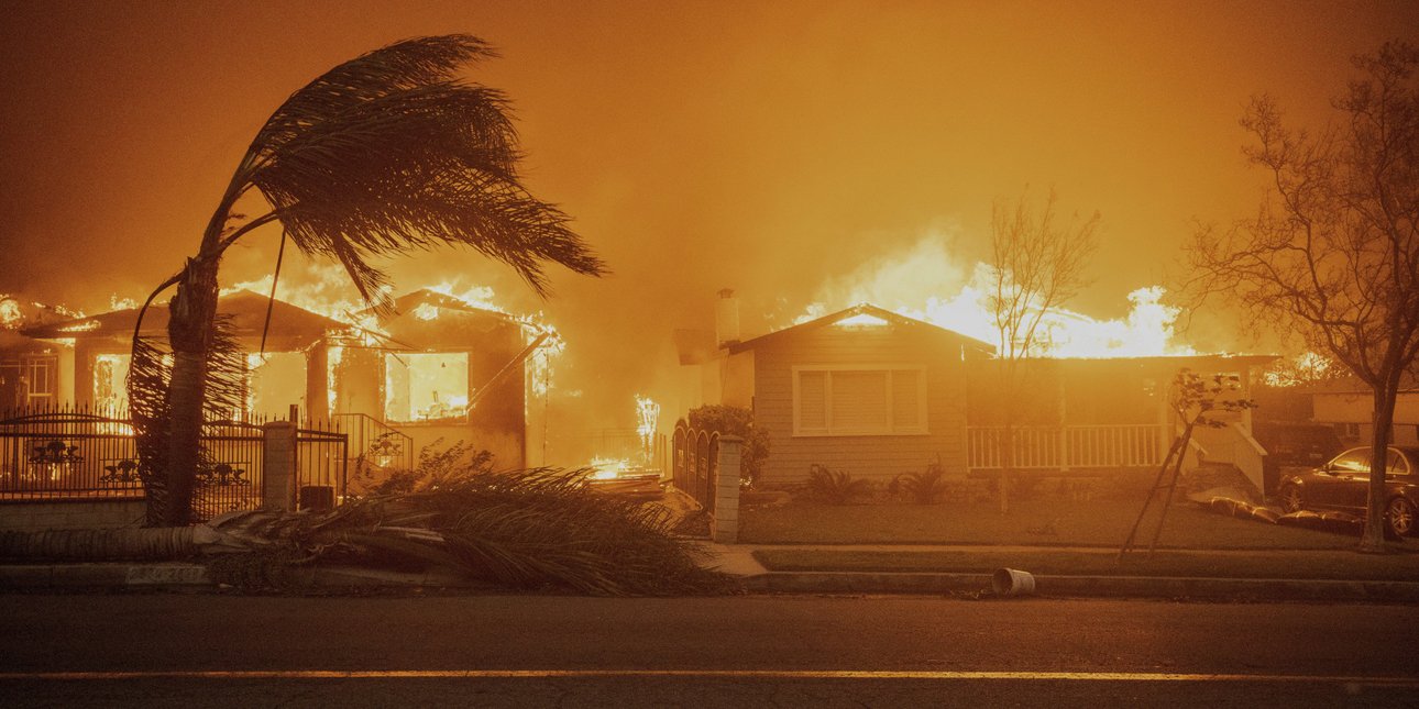
<svg viewBox="0 0 1419 709">
<path fill-rule="evenodd" d="M 1034 576 L 1050 597 L 1385 601 L 1419 604 L 1419 583 L 1156 576 Z M 990 574 L 771 571 L 744 579 L 756 593 L 990 594 Z"/>
</svg>

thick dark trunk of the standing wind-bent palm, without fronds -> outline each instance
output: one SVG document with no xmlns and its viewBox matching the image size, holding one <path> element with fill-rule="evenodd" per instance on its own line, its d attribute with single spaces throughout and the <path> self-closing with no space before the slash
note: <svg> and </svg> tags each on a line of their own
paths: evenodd
<svg viewBox="0 0 1419 709">
<path fill-rule="evenodd" d="M 187 525 L 192 522 L 192 492 L 197 479 L 203 401 L 217 318 L 217 258 L 199 255 L 187 261 L 169 309 L 173 370 L 167 411 L 172 418 L 165 461 L 167 505 L 162 510 L 162 522 Z"/>
</svg>

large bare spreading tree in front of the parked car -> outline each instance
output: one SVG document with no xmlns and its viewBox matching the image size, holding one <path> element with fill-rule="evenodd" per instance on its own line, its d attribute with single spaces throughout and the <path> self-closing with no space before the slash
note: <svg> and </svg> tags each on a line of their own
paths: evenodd
<svg viewBox="0 0 1419 709">
<path fill-rule="evenodd" d="M 1189 261 L 1196 294 L 1223 295 L 1372 390 L 1359 546 L 1376 552 L 1385 515 L 1405 513 L 1385 495 L 1385 464 L 1399 383 L 1419 356 L 1419 51 L 1392 41 L 1354 64 L 1362 77 L 1318 135 L 1288 129 L 1270 96 L 1252 99 L 1244 153 L 1271 186 L 1254 217 L 1199 228 Z"/>
</svg>

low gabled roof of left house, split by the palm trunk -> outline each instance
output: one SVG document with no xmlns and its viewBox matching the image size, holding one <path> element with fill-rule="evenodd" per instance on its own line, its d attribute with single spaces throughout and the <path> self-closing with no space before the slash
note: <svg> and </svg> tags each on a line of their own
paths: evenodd
<svg viewBox="0 0 1419 709">
<path fill-rule="evenodd" d="M 297 308 L 284 301 L 270 298 L 251 291 L 237 291 L 217 299 L 217 313 L 230 315 L 231 325 L 238 337 L 260 337 L 267 325 L 267 303 L 271 303 L 271 328 L 267 332 L 272 337 L 292 336 L 298 339 L 315 339 L 328 330 L 348 328 L 346 323 L 332 320 L 324 315 L 314 313 L 304 308 Z M 138 308 L 114 311 L 92 318 L 74 318 L 70 320 L 41 325 L 24 330 L 30 337 L 129 337 L 138 323 Z M 143 335 L 165 336 L 167 333 L 167 306 L 153 305 L 143 313 Z"/>
</svg>

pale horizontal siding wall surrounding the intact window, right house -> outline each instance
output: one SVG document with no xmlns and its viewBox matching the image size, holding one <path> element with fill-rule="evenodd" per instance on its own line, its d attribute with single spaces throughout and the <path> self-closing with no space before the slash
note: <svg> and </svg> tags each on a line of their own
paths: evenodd
<svg viewBox="0 0 1419 709">
<path fill-rule="evenodd" d="M 900 326 L 824 326 L 756 345 L 752 352 L 753 417 L 756 425 L 768 428 L 772 444 L 765 485 L 802 482 L 812 464 L 887 482 L 925 469 L 938 454 L 948 475 L 965 475 L 965 366 L 954 337 Z M 925 367 L 927 434 L 793 435 L 793 367 L 877 364 Z"/>
</svg>

